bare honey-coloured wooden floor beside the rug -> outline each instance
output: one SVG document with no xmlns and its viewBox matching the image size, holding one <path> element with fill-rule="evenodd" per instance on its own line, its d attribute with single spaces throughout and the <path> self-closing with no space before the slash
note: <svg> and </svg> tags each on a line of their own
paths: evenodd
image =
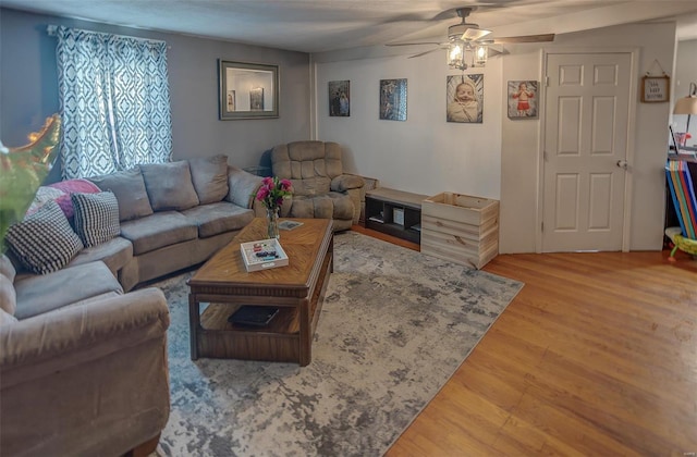
<svg viewBox="0 0 697 457">
<path fill-rule="evenodd" d="M 676 257 L 497 257 L 525 286 L 387 456 L 697 455 L 697 260 Z"/>
</svg>

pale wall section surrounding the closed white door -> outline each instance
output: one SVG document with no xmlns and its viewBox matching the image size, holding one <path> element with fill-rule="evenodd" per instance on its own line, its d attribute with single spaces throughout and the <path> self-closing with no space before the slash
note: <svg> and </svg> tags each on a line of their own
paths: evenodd
<svg viewBox="0 0 697 457">
<path fill-rule="evenodd" d="M 647 71 L 660 73 L 658 60 L 667 72 L 673 67 L 675 24 L 623 25 L 591 32 L 559 36 L 547 49 L 639 50 L 636 63 L 634 97 L 639 97 L 639 81 Z M 523 47 L 519 47 L 523 48 Z M 506 57 L 506 79 L 541 78 L 541 53 L 529 51 Z M 636 103 L 633 160 L 629 169 L 631 196 L 629 250 L 659 250 L 663 243 L 665 177 L 669 115 L 672 102 Z M 501 252 L 534 252 L 539 246 L 538 189 L 539 157 L 537 131 L 524 128 L 519 122 L 503 120 Z"/>
</svg>

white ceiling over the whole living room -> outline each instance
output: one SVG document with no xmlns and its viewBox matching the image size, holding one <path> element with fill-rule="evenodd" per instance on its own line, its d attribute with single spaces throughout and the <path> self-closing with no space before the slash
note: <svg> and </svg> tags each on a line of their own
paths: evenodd
<svg viewBox="0 0 697 457">
<path fill-rule="evenodd" d="M 697 38 L 697 0 L 0 0 L 1 7 L 272 48 L 328 52 L 387 42 L 444 39 L 460 18 L 492 37 L 570 33 L 676 20 Z"/>
</svg>

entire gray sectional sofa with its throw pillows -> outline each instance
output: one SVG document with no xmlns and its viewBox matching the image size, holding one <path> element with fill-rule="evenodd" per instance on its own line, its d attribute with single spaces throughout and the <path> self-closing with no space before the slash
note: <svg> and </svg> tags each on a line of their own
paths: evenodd
<svg viewBox="0 0 697 457">
<path fill-rule="evenodd" d="M 129 291 L 205 261 L 265 214 L 261 178 L 224 156 L 89 181 L 101 192 L 73 195 L 74 231 L 51 200 L 7 236 L 0 455 L 157 443 L 170 408 L 169 309 L 157 288 Z"/>
</svg>

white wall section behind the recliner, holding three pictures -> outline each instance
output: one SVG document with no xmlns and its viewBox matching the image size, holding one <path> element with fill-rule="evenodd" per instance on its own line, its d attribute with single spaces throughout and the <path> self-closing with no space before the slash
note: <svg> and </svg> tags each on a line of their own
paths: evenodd
<svg viewBox="0 0 697 457">
<path fill-rule="evenodd" d="M 500 197 L 501 59 L 482 73 L 484 122 L 445 122 L 443 51 L 416 59 L 407 55 L 317 63 L 317 137 L 338 141 L 347 168 L 377 177 L 384 187 L 416 194 L 455 192 Z M 407 119 L 379 119 L 379 81 L 407 79 Z M 351 81 L 351 116 L 329 116 L 328 83 Z"/>
</svg>

